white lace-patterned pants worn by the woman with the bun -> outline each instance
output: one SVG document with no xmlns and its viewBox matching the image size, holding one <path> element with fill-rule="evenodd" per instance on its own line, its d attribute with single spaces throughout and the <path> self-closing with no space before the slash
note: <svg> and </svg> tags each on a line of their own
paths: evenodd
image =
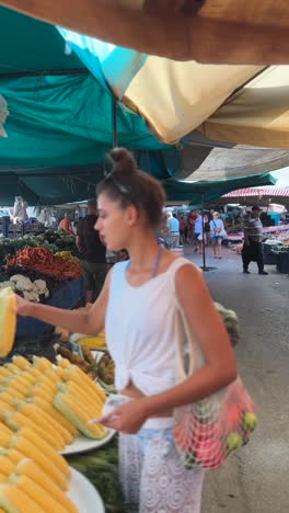
<svg viewBox="0 0 289 513">
<path fill-rule="evenodd" d="M 119 476 L 130 513 L 200 513 L 204 470 L 187 470 L 171 429 L 119 436 Z"/>
</svg>

